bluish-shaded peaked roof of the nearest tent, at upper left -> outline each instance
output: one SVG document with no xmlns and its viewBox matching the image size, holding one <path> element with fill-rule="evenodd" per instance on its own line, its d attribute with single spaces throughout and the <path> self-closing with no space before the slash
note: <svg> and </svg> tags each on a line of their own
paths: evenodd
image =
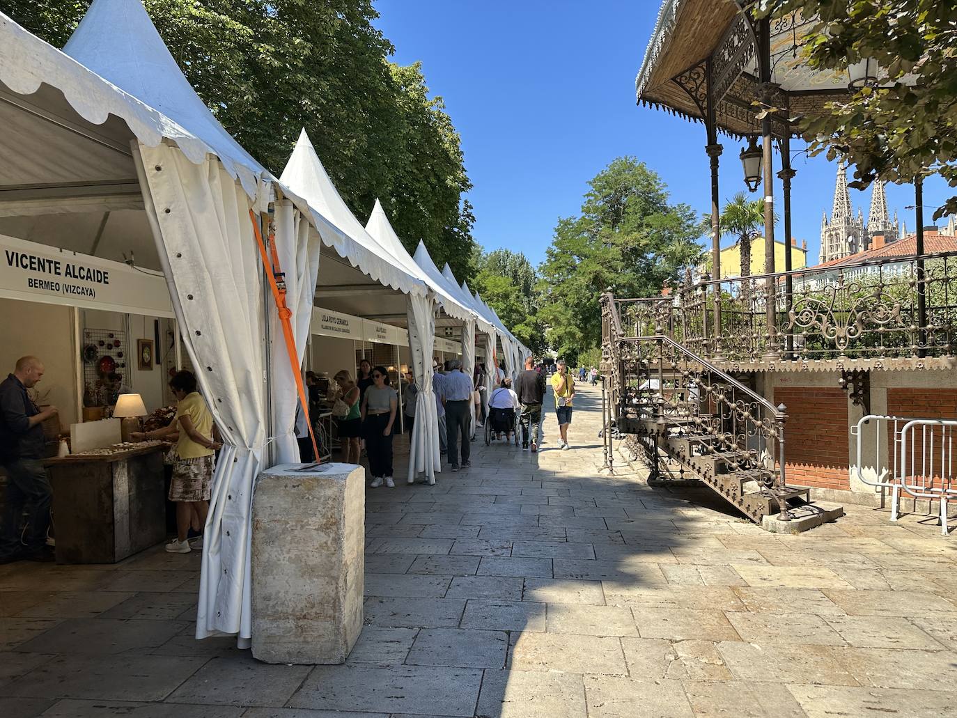
<svg viewBox="0 0 957 718">
<path fill-rule="evenodd" d="M 198 164 L 207 153 L 215 154 L 227 171 L 238 177 L 243 189 L 250 196 L 256 196 L 259 180 L 268 172 L 233 139 L 196 95 L 140 0 L 94 0 L 63 53 L 165 116 L 150 119 L 154 126 L 159 125 L 157 129 L 162 136 L 176 142 L 189 160 Z M 79 75 L 76 69 L 74 74 Z M 76 79 L 66 78 L 66 86 L 57 87 L 64 94 L 70 92 L 67 98 L 80 115 L 96 122 L 87 114 L 91 108 L 84 107 L 94 103 L 94 98 L 78 99 L 79 106 L 71 99 L 71 96 L 77 97 Z M 142 121 L 143 118 L 134 119 Z M 171 126 L 168 120 L 178 127 Z M 130 128 L 146 145 L 159 144 L 160 138 L 148 134 L 144 137 L 133 124 Z"/>
</svg>

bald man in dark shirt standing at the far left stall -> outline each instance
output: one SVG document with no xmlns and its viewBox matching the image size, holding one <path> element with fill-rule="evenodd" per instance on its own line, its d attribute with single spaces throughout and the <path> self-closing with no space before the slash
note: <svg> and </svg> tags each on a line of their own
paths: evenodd
<svg viewBox="0 0 957 718">
<path fill-rule="evenodd" d="M 13 373 L 0 382 L 0 465 L 7 472 L 7 500 L 0 525 L 0 563 L 21 558 L 52 560 L 45 550 L 50 527 L 53 490 L 43 468 L 43 422 L 56 415 L 56 407 L 40 411 L 27 393 L 43 377 L 43 364 L 35 356 L 17 360 Z M 27 508 L 27 531 L 20 537 L 20 522 Z"/>
</svg>

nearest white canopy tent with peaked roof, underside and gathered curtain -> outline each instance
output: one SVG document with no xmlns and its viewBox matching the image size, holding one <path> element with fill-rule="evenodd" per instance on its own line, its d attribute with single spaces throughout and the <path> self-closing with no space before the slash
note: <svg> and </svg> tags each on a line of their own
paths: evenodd
<svg viewBox="0 0 957 718">
<path fill-rule="evenodd" d="M 298 198 L 215 121 L 139 2 L 96 0 L 66 53 L 4 15 L 0 40 L 0 113 L 18 130 L 0 136 L 10 160 L 0 170 L 0 228 L 163 270 L 226 442 L 213 480 L 196 635 L 238 634 L 242 643 L 251 628 L 252 488 L 270 440 L 263 377 L 273 313 L 250 210 L 263 212 L 274 194 Z M 318 243 L 303 247 L 303 222 L 288 203 L 279 205 L 277 245 L 294 280 L 295 310 L 301 287 L 314 281 Z M 89 238 L 77 231 L 93 226 Z M 288 359 L 279 366 L 289 373 Z M 290 442 L 278 438 L 282 460 Z"/>
</svg>

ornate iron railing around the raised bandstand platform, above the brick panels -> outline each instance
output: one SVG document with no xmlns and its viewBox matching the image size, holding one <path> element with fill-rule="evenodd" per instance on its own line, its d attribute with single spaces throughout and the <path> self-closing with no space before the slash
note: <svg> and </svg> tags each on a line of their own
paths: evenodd
<svg viewBox="0 0 957 718">
<path fill-rule="evenodd" d="M 626 336 L 663 334 L 719 362 L 953 356 L 957 253 L 702 280 L 612 300 Z"/>
</svg>

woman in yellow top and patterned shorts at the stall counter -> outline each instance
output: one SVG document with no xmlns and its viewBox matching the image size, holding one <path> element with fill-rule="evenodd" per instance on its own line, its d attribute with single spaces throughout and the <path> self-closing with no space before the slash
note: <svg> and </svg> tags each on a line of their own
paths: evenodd
<svg viewBox="0 0 957 718">
<path fill-rule="evenodd" d="M 172 434 L 176 439 L 176 460 L 173 479 L 169 484 L 169 501 L 176 502 L 175 541 L 167 544 L 170 553 L 189 553 L 190 517 L 199 517 L 200 526 L 206 526 L 210 511 L 212 459 L 222 444 L 213 440 L 212 415 L 206 401 L 196 392 L 196 377 L 191 371 L 177 371 L 169 380 L 169 388 L 177 399 L 176 415 L 163 429 L 135 433 L 133 438 L 163 438 Z"/>
</svg>

